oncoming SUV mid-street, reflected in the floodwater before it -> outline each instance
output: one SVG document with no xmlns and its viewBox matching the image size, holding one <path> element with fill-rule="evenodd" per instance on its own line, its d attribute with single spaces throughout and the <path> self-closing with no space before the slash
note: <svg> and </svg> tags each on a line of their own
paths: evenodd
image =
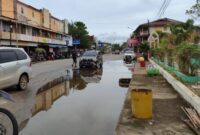
<svg viewBox="0 0 200 135">
<path fill-rule="evenodd" d="M 85 51 L 79 60 L 79 67 L 101 68 L 103 65 L 103 57 L 99 51 Z"/>
</svg>

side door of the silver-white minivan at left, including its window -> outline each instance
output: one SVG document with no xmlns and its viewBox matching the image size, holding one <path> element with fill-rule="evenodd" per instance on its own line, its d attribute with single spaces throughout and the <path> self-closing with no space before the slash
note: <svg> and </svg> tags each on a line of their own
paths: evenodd
<svg viewBox="0 0 200 135">
<path fill-rule="evenodd" d="M 1 86 L 8 87 L 16 84 L 16 72 L 19 68 L 17 64 L 17 55 L 14 51 L 1 51 L 1 70 L 3 71 L 3 77 L 1 78 Z"/>
</svg>

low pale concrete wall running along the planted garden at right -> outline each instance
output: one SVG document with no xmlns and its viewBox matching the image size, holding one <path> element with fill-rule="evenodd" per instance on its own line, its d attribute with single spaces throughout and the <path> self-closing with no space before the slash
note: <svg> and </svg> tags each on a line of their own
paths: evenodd
<svg viewBox="0 0 200 135">
<path fill-rule="evenodd" d="M 198 113 L 200 113 L 200 97 L 194 94 L 188 87 L 174 78 L 171 74 L 165 71 L 152 59 L 149 60 L 152 64 L 156 65 L 163 77 L 173 86 L 173 88 L 188 102 L 190 103 Z"/>
</svg>

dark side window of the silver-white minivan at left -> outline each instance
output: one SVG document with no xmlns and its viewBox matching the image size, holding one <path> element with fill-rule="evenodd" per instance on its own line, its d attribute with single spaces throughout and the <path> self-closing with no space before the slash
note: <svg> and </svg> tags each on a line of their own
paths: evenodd
<svg viewBox="0 0 200 135">
<path fill-rule="evenodd" d="M 14 51 L 0 51 L 0 64 L 17 61 Z"/>
</svg>

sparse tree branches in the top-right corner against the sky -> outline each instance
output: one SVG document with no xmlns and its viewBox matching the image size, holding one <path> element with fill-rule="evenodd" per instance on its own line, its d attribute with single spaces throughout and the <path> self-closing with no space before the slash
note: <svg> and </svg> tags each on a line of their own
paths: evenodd
<svg viewBox="0 0 200 135">
<path fill-rule="evenodd" d="M 195 20 L 200 19 L 200 0 L 196 0 L 196 4 L 189 10 L 186 10 L 186 14 L 190 15 Z"/>
</svg>

